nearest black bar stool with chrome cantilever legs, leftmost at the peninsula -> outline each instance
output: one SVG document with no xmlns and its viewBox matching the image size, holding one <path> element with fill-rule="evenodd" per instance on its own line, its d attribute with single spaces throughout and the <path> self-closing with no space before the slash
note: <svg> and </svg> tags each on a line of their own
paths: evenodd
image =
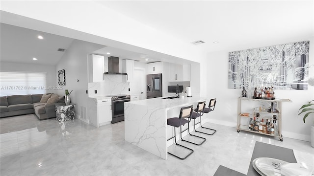
<svg viewBox="0 0 314 176">
<path fill-rule="evenodd" d="M 185 149 L 188 149 L 190 151 L 189 154 L 187 154 L 185 157 L 179 157 L 178 155 L 175 155 L 175 154 L 172 154 L 172 153 L 168 152 L 168 154 L 171 154 L 171 155 L 173 155 L 173 156 L 175 156 L 177 158 L 180 158 L 180 159 L 185 159 L 185 158 L 187 158 L 189 155 L 191 155 L 194 152 L 192 149 L 187 148 L 187 147 L 185 147 L 185 146 L 183 146 L 181 144 L 178 144 L 177 143 L 177 139 L 176 139 L 176 128 L 179 128 L 182 125 L 184 125 L 186 123 L 189 123 L 190 117 L 192 115 L 192 112 L 193 112 L 193 105 L 188 106 L 188 107 L 182 107 L 181 110 L 180 110 L 179 117 L 173 117 L 173 118 L 167 119 L 167 124 L 170 125 L 170 126 L 173 126 L 174 127 L 174 132 L 175 132 L 175 135 L 172 136 L 171 138 L 169 138 L 168 140 L 170 140 L 172 138 L 175 138 L 176 145 L 184 147 Z M 189 121 L 186 120 L 186 118 L 188 118 Z M 180 137 L 182 139 L 181 135 L 182 134 L 180 133 Z"/>
</svg>

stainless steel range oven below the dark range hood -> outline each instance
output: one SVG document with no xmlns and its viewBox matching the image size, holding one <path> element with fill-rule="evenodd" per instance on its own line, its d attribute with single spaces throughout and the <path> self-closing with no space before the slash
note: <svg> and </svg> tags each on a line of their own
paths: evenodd
<svg viewBox="0 0 314 176">
<path fill-rule="evenodd" d="M 131 101 L 130 95 L 110 95 L 112 105 L 112 121 L 117 123 L 124 121 L 124 103 Z"/>
</svg>

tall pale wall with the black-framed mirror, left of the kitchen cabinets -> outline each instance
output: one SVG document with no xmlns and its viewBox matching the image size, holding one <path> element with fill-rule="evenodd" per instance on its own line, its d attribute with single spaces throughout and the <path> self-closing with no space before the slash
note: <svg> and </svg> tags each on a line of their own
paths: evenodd
<svg viewBox="0 0 314 176">
<path fill-rule="evenodd" d="M 76 104 L 76 117 L 86 121 L 88 94 L 87 58 L 93 51 L 104 47 L 100 44 L 74 40 L 66 53 L 55 66 L 56 70 L 65 69 L 65 86 L 57 93 L 65 95 L 65 89 L 73 90 L 71 103 Z"/>
</svg>

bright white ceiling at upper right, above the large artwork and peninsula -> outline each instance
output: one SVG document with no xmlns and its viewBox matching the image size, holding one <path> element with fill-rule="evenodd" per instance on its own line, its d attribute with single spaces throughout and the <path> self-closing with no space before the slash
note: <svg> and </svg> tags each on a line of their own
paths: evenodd
<svg viewBox="0 0 314 176">
<path fill-rule="evenodd" d="M 206 52 L 297 42 L 314 36 L 313 0 L 97 1 Z M 218 41 L 218 44 L 213 42 Z"/>
</svg>

